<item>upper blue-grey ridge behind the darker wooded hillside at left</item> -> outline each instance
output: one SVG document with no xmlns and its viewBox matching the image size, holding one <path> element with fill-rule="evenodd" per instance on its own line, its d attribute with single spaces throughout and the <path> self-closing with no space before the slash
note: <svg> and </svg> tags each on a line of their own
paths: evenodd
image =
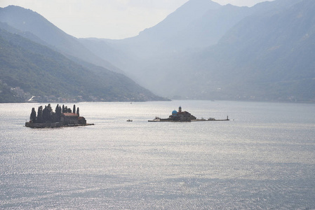
<svg viewBox="0 0 315 210">
<path fill-rule="evenodd" d="M 27 10 L 19 6 L 7 6 L 0 8 L 0 22 L 6 22 L 11 27 L 20 31 L 28 31 L 39 37 L 48 47 L 54 48 L 69 58 L 78 57 L 86 62 L 103 66 L 112 71 L 121 72 L 116 66 L 110 64 L 106 59 L 93 54 L 85 48 L 77 38 L 69 36 L 64 31 L 55 27 L 43 16 L 32 10 Z M 23 36 L 23 34 L 21 34 Z M 26 36 L 26 38 L 28 38 Z M 35 41 L 35 40 L 33 40 Z M 41 41 L 39 43 L 42 44 Z"/>
</svg>

